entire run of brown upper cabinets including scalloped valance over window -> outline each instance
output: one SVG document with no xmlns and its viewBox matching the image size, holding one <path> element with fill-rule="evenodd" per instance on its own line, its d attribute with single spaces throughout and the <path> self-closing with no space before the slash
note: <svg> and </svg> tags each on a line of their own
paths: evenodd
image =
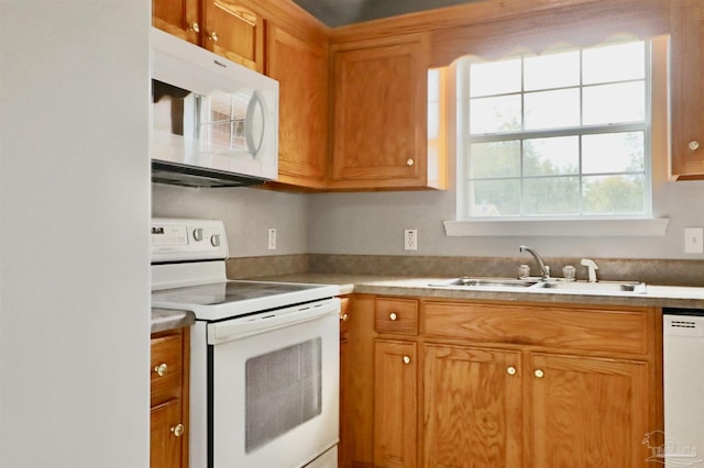
<svg viewBox="0 0 704 468">
<path fill-rule="evenodd" d="M 272 186 L 311 190 L 448 187 L 453 143 L 429 149 L 431 67 L 565 35 L 590 45 L 671 34 L 671 175 L 704 179 L 701 0 L 486 0 L 334 30 L 289 0 L 153 0 L 153 24 L 279 81 Z M 437 118 L 454 125 L 449 107 Z"/>
</svg>

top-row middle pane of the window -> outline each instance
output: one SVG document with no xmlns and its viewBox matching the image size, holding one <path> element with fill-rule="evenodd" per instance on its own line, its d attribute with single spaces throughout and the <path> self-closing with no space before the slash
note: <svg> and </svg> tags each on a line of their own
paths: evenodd
<svg viewBox="0 0 704 468">
<path fill-rule="evenodd" d="M 524 67 L 524 87 L 527 91 L 580 83 L 579 51 L 526 57 Z"/>
</svg>

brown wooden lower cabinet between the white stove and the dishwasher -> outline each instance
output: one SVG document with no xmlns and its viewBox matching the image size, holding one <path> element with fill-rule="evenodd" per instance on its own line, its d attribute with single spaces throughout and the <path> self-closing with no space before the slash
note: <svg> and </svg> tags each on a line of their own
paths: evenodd
<svg viewBox="0 0 704 468">
<path fill-rule="evenodd" d="M 659 309 L 358 294 L 351 310 L 342 467 L 648 466 Z"/>
</svg>

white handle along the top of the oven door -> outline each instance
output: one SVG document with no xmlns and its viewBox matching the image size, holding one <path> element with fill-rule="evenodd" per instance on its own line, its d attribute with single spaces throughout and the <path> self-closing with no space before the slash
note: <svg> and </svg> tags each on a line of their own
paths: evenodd
<svg viewBox="0 0 704 468">
<path fill-rule="evenodd" d="M 285 326 L 310 322 L 326 315 L 336 315 L 337 317 L 339 313 L 340 299 L 331 298 L 311 304 L 297 305 L 294 308 L 263 312 L 245 317 L 209 323 L 208 344 L 219 345 L 222 343 L 233 342 L 235 339 L 242 339 L 248 336 L 271 332 Z M 336 323 L 338 323 L 338 321 L 336 321 Z"/>
</svg>

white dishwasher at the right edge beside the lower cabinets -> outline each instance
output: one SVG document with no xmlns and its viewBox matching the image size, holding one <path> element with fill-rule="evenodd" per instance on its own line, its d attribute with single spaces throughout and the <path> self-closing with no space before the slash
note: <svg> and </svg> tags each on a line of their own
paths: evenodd
<svg viewBox="0 0 704 468">
<path fill-rule="evenodd" d="M 704 310 L 663 310 L 664 466 L 704 467 Z"/>
</svg>

